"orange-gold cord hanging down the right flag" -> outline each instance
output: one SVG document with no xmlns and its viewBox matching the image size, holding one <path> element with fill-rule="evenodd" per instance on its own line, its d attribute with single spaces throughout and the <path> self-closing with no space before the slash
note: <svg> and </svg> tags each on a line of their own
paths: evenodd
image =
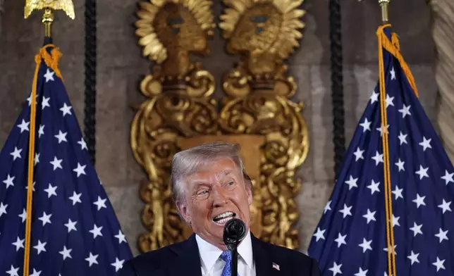
<svg viewBox="0 0 454 276">
<path fill-rule="evenodd" d="M 394 230 L 393 230 L 393 199 L 391 197 L 391 170 L 389 166 L 389 144 L 388 144 L 388 116 L 386 114 L 386 86 L 385 68 L 383 58 L 384 28 L 390 24 L 382 25 L 377 30 L 379 37 L 379 78 L 380 78 L 380 107 L 381 107 L 381 141 L 383 143 L 384 160 L 384 187 L 385 187 L 385 210 L 386 210 L 386 244 L 388 248 L 388 275 L 396 276 L 395 251 L 394 251 Z"/>
</svg>

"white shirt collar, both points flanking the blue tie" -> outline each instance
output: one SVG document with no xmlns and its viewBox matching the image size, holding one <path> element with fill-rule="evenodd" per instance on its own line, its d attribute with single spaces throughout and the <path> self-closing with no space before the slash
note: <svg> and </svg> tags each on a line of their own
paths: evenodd
<svg viewBox="0 0 454 276">
<path fill-rule="evenodd" d="M 221 249 L 217 248 L 213 244 L 202 239 L 199 235 L 195 235 L 197 241 L 197 246 L 199 247 L 199 253 L 201 258 L 202 266 L 208 271 L 211 270 L 214 263 L 221 256 Z M 250 236 L 250 231 L 247 231 L 245 239 L 238 246 L 238 255 L 243 258 L 248 268 L 252 270 L 252 241 Z"/>
</svg>

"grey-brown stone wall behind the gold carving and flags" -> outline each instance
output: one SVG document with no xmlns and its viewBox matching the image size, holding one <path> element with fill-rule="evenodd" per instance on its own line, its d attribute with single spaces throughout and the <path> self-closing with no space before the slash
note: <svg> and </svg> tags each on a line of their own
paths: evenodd
<svg viewBox="0 0 454 276">
<path fill-rule="evenodd" d="M 214 13 L 221 14 L 215 1 Z M 306 28 L 301 47 L 291 56 L 290 74 L 298 82 L 295 101 L 305 101 L 303 112 L 309 125 L 310 152 L 299 174 L 304 182 L 297 204 L 301 250 L 309 244 L 314 227 L 333 187 L 333 144 L 329 51 L 328 0 L 306 0 L 303 8 Z M 434 120 L 436 82 L 434 80 L 434 43 L 431 39 L 430 7 L 425 1 L 393 1 L 391 22 L 400 35 L 403 55 L 409 63 L 429 118 Z M 84 18 L 82 1 L 75 1 L 76 19 L 61 12 L 56 15 L 54 43 L 63 52 L 60 68 L 66 89 L 82 125 L 83 120 L 83 46 Z M 345 127 L 347 142 L 364 111 L 378 80 L 376 27 L 380 9 L 376 1 L 342 1 L 344 47 Z M 137 236 L 145 229 L 140 223 L 143 203 L 138 183 L 145 177 L 129 146 L 131 108 L 143 98 L 137 89 L 149 61 L 141 57 L 134 35 L 136 1 L 98 1 L 98 76 L 97 76 L 97 172 L 102 179 L 128 240 L 137 253 Z M 11 131 L 23 101 L 31 91 L 33 56 L 42 45 L 39 13 L 23 19 L 23 1 L 6 1 L 0 32 L 0 144 Z M 236 56 L 223 51 L 224 42 L 216 31 L 212 54 L 200 59 L 216 80 L 228 71 Z M 216 97 L 221 98 L 221 83 Z"/>
</svg>

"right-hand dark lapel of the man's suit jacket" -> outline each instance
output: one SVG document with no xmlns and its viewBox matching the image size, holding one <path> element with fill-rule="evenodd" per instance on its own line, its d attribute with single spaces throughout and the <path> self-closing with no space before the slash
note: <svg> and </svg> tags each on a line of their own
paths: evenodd
<svg viewBox="0 0 454 276">
<path fill-rule="evenodd" d="M 255 262 L 255 272 L 259 276 L 278 276 L 286 275 L 285 271 L 282 271 L 280 267 L 279 270 L 273 268 L 273 263 L 279 265 L 278 260 L 274 260 L 272 257 L 271 247 L 267 246 L 265 242 L 257 239 L 252 235 L 252 253 L 254 256 Z"/>
</svg>

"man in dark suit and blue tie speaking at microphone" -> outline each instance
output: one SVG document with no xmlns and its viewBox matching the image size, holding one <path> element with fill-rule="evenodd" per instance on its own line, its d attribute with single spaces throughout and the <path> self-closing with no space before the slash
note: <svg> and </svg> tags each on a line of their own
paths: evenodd
<svg viewBox="0 0 454 276">
<path fill-rule="evenodd" d="M 238 246 L 239 276 L 320 275 L 314 259 L 250 232 L 252 184 L 238 151 L 238 145 L 211 143 L 176 153 L 173 199 L 194 234 L 126 262 L 121 276 L 231 276 L 231 252 L 223 243 L 223 227 L 231 218 L 243 220 L 247 229 Z"/>
</svg>

